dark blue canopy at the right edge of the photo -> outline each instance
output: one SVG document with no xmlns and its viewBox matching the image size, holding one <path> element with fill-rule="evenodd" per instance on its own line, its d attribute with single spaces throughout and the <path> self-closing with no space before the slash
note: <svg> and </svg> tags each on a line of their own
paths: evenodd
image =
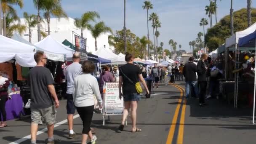
<svg viewBox="0 0 256 144">
<path fill-rule="evenodd" d="M 241 37 L 239 39 L 239 47 L 255 47 L 256 31 L 253 33 Z"/>
</svg>

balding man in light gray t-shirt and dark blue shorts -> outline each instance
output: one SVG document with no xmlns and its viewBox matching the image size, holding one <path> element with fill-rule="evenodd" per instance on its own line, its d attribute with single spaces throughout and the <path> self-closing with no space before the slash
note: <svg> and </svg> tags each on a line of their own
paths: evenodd
<svg viewBox="0 0 256 144">
<path fill-rule="evenodd" d="M 73 63 L 67 67 L 67 120 L 69 124 L 69 139 L 75 137 L 75 132 L 73 131 L 73 116 L 75 114 L 75 104 L 73 101 L 73 92 L 74 92 L 74 81 L 77 75 L 81 75 L 82 68 L 80 62 L 80 53 L 73 54 Z"/>
</svg>

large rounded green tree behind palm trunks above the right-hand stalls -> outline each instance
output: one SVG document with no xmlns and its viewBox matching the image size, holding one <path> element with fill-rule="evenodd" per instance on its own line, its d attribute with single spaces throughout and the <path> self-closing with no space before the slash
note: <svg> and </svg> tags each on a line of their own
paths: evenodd
<svg viewBox="0 0 256 144">
<path fill-rule="evenodd" d="M 252 9 L 252 23 L 256 22 L 256 9 Z M 234 12 L 234 32 L 246 29 L 247 24 L 247 9 L 243 8 Z M 225 39 L 230 37 L 230 16 L 222 18 L 214 27 L 207 30 L 205 34 L 205 44 L 210 51 L 215 50 L 220 45 L 225 43 Z"/>
</svg>

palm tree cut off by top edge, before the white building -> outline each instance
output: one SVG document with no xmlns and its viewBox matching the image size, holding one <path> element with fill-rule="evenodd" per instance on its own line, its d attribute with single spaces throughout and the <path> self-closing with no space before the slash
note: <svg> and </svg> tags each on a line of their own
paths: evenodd
<svg viewBox="0 0 256 144">
<path fill-rule="evenodd" d="M 61 0 L 52 0 L 51 5 L 45 5 L 45 13 L 43 14 L 43 16 L 47 21 L 48 35 L 51 34 L 51 30 L 50 30 L 51 15 L 57 18 L 60 18 L 62 16 L 67 18 L 67 13 L 65 13 L 61 7 Z"/>
</svg>

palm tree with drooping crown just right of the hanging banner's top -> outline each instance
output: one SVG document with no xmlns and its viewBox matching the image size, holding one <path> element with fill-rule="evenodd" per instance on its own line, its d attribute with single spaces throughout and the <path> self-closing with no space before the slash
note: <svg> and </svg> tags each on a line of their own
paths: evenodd
<svg viewBox="0 0 256 144">
<path fill-rule="evenodd" d="M 112 32 L 112 29 L 110 27 L 107 27 L 103 21 L 100 21 L 99 23 L 95 24 L 94 27 L 89 26 L 88 29 L 91 31 L 91 34 L 95 38 L 95 51 L 98 50 L 97 46 L 97 38 L 103 34 L 104 32 Z"/>
</svg>

